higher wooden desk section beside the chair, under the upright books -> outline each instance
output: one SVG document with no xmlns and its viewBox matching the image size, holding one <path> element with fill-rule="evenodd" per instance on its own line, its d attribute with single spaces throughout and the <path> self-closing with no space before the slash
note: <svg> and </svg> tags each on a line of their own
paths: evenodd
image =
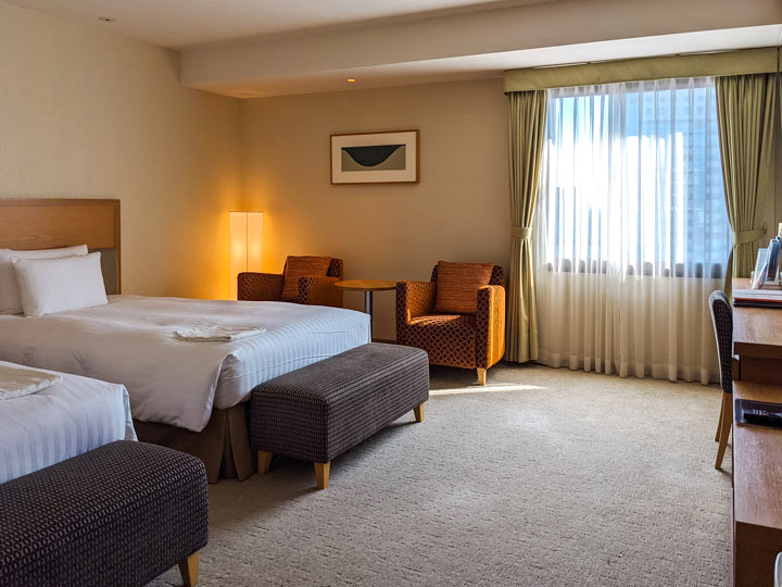
<svg viewBox="0 0 782 587">
<path fill-rule="evenodd" d="M 733 289 L 749 279 L 733 279 Z M 782 310 L 733 307 L 734 380 L 782 385 Z"/>
</svg>

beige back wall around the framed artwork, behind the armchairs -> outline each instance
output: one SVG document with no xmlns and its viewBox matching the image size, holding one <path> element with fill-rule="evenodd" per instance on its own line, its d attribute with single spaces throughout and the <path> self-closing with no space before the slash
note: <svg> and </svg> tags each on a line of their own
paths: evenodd
<svg viewBox="0 0 782 587">
<path fill-rule="evenodd" d="M 265 213 L 266 271 L 307 253 L 343 258 L 346 278 L 428 280 L 440 259 L 507 266 L 502 79 L 245 100 L 241 114 L 244 198 Z M 419 184 L 330 185 L 329 135 L 409 128 L 420 130 Z M 375 295 L 378 338 L 394 337 L 393 302 Z"/>
</svg>

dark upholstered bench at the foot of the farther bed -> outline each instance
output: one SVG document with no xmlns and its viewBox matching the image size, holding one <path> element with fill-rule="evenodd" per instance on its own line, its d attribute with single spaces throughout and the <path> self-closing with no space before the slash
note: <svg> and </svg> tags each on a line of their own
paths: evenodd
<svg viewBox="0 0 782 587">
<path fill-rule="evenodd" d="M 325 489 L 331 459 L 405 412 L 421 422 L 427 399 L 427 353 L 399 345 L 364 345 L 261 384 L 250 408 L 258 474 L 273 454 L 313 461 Z"/>
</svg>

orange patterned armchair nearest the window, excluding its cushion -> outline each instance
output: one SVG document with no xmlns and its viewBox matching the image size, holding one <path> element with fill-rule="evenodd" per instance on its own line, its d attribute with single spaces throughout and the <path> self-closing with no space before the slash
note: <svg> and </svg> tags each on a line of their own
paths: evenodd
<svg viewBox="0 0 782 587">
<path fill-rule="evenodd" d="M 478 371 L 485 385 L 487 370 L 505 354 L 505 274 L 494 265 L 489 285 L 478 288 L 475 314 L 437 312 L 438 267 L 431 282 L 396 284 L 396 341 L 424 349 L 429 363 Z"/>
</svg>

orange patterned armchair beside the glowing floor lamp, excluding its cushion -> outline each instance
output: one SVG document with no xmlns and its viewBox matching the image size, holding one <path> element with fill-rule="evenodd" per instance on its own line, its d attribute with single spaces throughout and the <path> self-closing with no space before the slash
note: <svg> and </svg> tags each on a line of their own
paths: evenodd
<svg viewBox="0 0 782 587">
<path fill-rule="evenodd" d="M 298 278 L 298 296 L 295 299 L 283 300 L 288 264 L 294 258 L 286 260 L 281 274 L 277 273 L 240 273 L 238 276 L 238 299 L 250 301 L 291 301 L 307 305 L 332 305 L 342 308 L 342 290 L 335 286 L 342 280 L 344 264 L 341 259 L 330 259 L 326 275 L 306 275 Z M 301 259 L 301 258 L 299 258 Z M 288 276 L 291 278 L 291 276 Z M 294 278 L 294 277 L 293 277 Z"/>
</svg>

